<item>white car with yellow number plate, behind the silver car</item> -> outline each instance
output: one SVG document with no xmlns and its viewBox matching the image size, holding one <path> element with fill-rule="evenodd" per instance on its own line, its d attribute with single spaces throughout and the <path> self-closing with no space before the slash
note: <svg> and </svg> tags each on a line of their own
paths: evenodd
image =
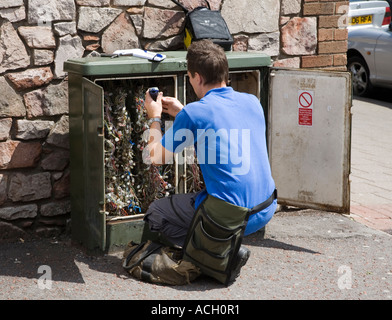
<svg viewBox="0 0 392 320">
<path fill-rule="evenodd" d="M 348 29 L 387 27 L 391 23 L 391 8 L 387 1 L 350 0 Z"/>
</svg>

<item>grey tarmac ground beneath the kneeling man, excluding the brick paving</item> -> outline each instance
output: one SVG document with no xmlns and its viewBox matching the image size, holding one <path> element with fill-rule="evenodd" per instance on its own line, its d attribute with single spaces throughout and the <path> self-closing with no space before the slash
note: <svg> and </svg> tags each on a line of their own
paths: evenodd
<svg viewBox="0 0 392 320">
<path fill-rule="evenodd" d="M 121 252 L 89 256 L 67 237 L 2 243 L 0 299 L 392 300 L 392 236 L 347 216 L 279 212 L 244 245 L 251 257 L 231 286 L 170 287 L 128 277 Z"/>
</svg>

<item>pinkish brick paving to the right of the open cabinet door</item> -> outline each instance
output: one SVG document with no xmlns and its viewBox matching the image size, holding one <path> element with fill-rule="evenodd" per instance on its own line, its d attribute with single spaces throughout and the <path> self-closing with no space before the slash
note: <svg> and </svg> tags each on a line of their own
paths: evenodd
<svg viewBox="0 0 392 320">
<path fill-rule="evenodd" d="M 392 234 L 392 103 L 355 98 L 352 113 L 351 216 Z"/>
</svg>

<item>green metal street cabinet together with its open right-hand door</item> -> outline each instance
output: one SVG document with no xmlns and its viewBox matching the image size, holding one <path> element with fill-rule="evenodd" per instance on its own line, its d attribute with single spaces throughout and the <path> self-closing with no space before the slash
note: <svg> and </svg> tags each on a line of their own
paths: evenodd
<svg viewBox="0 0 392 320">
<path fill-rule="evenodd" d="M 194 101 L 186 51 L 162 62 L 136 57 L 68 60 L 72 237 L 88 250 L 114 251 L 154 235 L 143 212 L 111 217 L 105 202 L 104 87 L 156 86 L 181 103 Z M 350 212 L 351 74 L 281 69 L 260 52 L 226 52 L 230 85 L 260 99 L 279 203 Z M 331 94 L 332 93 L 332 94 Z M 244 106 L 246 112 L 246 106 Z M 175 192 L 190 192 L 186 163 L 175 163 Z"/>
</svg>

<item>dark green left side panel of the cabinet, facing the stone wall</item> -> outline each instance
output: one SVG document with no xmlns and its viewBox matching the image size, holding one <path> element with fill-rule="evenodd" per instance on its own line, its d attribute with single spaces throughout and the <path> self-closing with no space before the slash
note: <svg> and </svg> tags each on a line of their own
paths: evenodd
<svg viewBox="0 0 392 320">
<path fill-rule="evenodd" d="M 69 84 L 72 236 L 92 251 L 103 250 L 103 90 L 82 77 L 73 78 Z"/>
</svg>

